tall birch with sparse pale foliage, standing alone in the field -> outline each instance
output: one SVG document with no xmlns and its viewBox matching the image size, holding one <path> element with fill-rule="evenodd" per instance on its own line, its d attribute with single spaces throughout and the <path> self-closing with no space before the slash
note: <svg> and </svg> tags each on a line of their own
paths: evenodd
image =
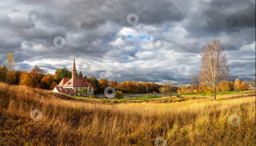
<svg viewBox="0 0 256 146">
<path fill-rule="evenodd" d="M 220 40 L 214 39 L 204 45 L 201 53 L 200 81 L 210 87 L 210 91 L 214 93 L 214 100 L 221 81 L 227 80 L 230 76 L 227 59 L 225 54 L 222 54 L 224 49 Z"/>
</svg>

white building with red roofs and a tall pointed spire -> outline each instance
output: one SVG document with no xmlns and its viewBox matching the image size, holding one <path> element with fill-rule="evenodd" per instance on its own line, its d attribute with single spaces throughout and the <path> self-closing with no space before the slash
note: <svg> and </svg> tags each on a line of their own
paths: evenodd
<svg viewBox="0 0 256 146">
<path fill-rule="evenodd" d="M 87 93 L 92 93 L 93 95 L 93 86 L 91 83 L 86 81 L 84 77 L 76 76 L 76 64 L 75 64 L 75 56 L 72 68 L 72 77 L 63 78 L 60 83 L 54 87 L 53 92 L 63 93 L 66 95 L 76 94 L 76 90 L 81 90 L 82 88 L 87 89 Z M 79 95 L 78 95 L 79 96 Z M 80 94 L 81 96 L 81 94 Z M 87 95 L 86 95 L 87 96 Z"/>
</svg>

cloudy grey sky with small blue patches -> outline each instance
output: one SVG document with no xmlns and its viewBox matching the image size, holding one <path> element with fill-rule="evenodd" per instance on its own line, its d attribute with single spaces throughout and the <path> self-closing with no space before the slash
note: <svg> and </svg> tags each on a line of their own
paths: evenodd
<svg viewBox="0 0 256 146">
<path fill-rule="evenodd" d="M 255 0 L 0 0 L 0 65 L 188 84 L 219 39 L 234 81 L 255 79 Z"/>
</svg>

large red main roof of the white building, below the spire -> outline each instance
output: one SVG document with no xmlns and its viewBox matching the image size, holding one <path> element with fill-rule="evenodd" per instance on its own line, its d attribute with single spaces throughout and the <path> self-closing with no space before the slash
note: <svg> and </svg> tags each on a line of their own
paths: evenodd
<svg viewBox="0 0 256 146">
<path fill-rule="evenodd" d="M 64 87 L 93 87 L 93 85 L 91 83 L 89 83 L 88 81 L 86 81 L 85 78 L 83 77 L 78 77 L 75 76 L 73 78 L 71 78 L 67 83 L 65 83 L 63 85 Z"/>
</svg>

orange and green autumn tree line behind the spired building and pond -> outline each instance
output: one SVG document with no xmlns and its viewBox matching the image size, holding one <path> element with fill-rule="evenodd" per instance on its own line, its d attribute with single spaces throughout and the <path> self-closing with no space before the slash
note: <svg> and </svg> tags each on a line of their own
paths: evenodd
<svg viewBox="0 0 256 146">
<path fill-rule="evenodd" d="M 72 72 L 66 68 L 56 69 L 54 75 L 47 73 L 47 71 L 40 69 L 38 65 L 30 71 L 15 70 L 15 60 L 13 59 L 11 51 L 7 55 L 7 65 L 0 65 L 0 81 L 7 83 L 6 85 L 23 85 L 33 88 L 41 88 L 46 90 L 53 90 L 56 85 L 60 83 L 63 78 L 71 78 Z M 122 92 L 131 93 L 152 93 L 159 92 L 160 84 L 154 82 L 137 82 L 137 81 L 123 81 L 121 83 L 116 81 L 108 81 L 107 78 L 100 80 L 91 76 L 83 76 L 80 71 L 78 77 L 84 77 L 88 82 L 94 86 L 94 93 L 103 93 L 106 87 L 113 87 Z"/>
</svg>

